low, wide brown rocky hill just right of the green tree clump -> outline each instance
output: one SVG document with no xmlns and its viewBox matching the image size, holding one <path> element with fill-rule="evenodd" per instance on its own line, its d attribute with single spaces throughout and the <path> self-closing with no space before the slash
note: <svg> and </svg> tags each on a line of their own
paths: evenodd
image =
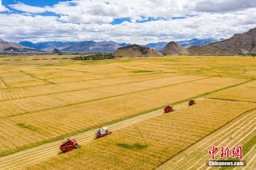
<svg viewBox="0 0 256 170">
<path fill-rule="evenodd" d="M 141 45 L 133 44 L 125 47 L 118 48 L 114 53 L 114 56 L 122 57 L 157 57 L 163 56 L 162 53 L 154 49 L 143 47 Z"/>
</svg>

